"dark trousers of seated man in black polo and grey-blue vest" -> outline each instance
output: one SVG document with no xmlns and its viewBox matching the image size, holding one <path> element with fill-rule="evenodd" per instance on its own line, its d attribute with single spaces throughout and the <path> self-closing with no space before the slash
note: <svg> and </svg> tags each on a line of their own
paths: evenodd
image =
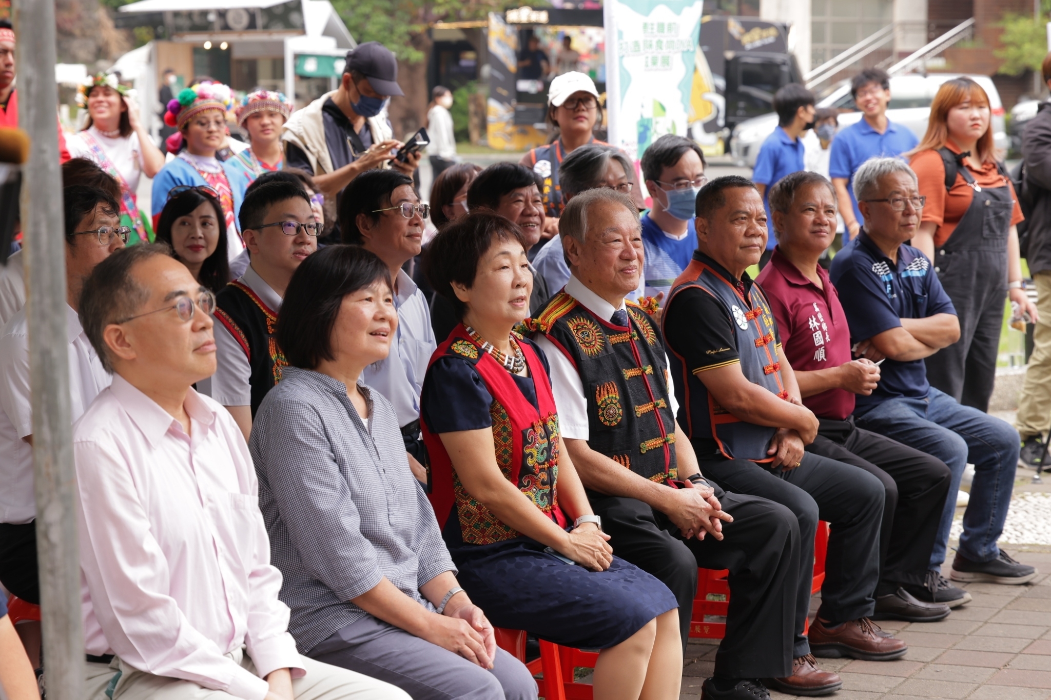
<svg viewBox="0 0 1051 700">
<path fill-rule="evenodd" d="M 803 625 L 810 611 L 818 521 L 827 521 L 832 527 L 818 614 L 839 623 L 868 617 L 874 611 L 884 501 L 883 484 L 871 474 L 810 452 L 804 453 L 801 462 L 788 470 L 770 470 L 748 460 L 710 460 L 700 465 L 701 472 L 724 489 L 780 503 L 799 519 L 797 650 L 806 644 Z"/>
</svg>

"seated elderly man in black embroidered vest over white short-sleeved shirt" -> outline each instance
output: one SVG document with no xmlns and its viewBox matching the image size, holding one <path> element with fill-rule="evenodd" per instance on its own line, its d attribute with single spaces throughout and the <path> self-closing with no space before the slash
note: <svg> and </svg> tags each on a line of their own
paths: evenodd
<svg viewBox="0 0 1051 700">
<path fill-rule="evenodd" d="M 624 301 L 642 271 L 638 211 L 616 191 L 585 191 L 566 205 L 560 232 L 573 276 L 534 327 L 565 447 L 614 551 L 676 594 L 683 645 L 698 567 L 730 570 L 726 636 L 705 697 L 765 697 L 755 680 L 764 677 L 792 677 L 811 694 L 836 691 L 834 674 L 812 665 L 794 674 L 795 516 L 704 480 L 675 420 L 660 330 Z"/>
</svg>

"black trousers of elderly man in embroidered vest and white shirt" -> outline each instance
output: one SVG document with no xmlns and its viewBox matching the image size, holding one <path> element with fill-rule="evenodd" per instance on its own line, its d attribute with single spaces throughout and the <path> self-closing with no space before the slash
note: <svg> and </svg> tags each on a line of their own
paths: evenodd
<svg viewBox="0 0 1051 700">
<path fill-rule="evenodd" d="M 726 635 L 716 652 L 722 678 L 783 678 L 791 675 L 792 623 L 800 532 L 792 513 L 765 499 L 726 493 L 716 487 L 723 510 L 723 539 L 683 539 L 668 517 L 636 499 L 588 492 L 592 508 L 617 556 L 653 574 L 679 601 L 682 645 L 689 638 L 697 568 L 729 569 Z M 811 534 L 811 549 L 813 535 Z M 805 642 L 805 640 L 804 640 Z"/>
</svg>

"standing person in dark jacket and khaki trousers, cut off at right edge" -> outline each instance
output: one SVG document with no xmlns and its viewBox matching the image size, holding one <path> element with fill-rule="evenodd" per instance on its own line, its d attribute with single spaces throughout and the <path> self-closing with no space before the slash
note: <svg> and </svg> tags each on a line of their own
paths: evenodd
<svg viewBox="0 0 1051 700">
<path fill-rule="evenodd" d="M 1044 84 L 1051 88 L 1051 54 L 1044 57 L 1042 70 Z M 1033 354 L 1026 368 L 1014 427 L 1022 437 L 1019 459 L 1035 468 L 1044 459 L 1040 433 L 1051 429 L 1051 102 L 1042 103 L 1036 116 L 1026 126 L 1022 157 L 1022 194 L 1032 199 L 1025 258 L 1036 284 L 1039 320 L 1033 331 Z"/>
</svg>

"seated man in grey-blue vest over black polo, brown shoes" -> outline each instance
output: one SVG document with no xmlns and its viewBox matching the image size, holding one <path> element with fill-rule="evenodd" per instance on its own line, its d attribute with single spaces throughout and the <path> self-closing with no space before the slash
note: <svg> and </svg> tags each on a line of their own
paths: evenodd
<svg viewBox="0 0 1051 700">
<path fill-rule="evenodd" d="M 701 466 L 723 488 L 787 506 L 799 518 L 797 654 L 901 658 L 904 641 L 880 634 L 875 608 L 884 489 L 867 471 L 803 446 L 818 419 L 800 400 L 774 314 L 745 269 L 766 247 L 766 212 L 744 177 L 719 177 L 697 195 L 697 252 L 663 314 L 676 397 Z M 831 523 L 821 610 L 810 606 L 813 536 Z"/>
</svg>

